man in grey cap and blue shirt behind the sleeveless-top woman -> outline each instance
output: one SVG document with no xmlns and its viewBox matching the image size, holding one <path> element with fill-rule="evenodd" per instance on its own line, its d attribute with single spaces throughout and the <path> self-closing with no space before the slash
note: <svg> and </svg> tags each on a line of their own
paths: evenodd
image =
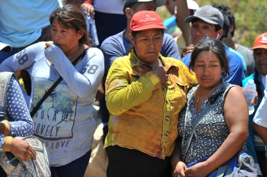
<svg viewBox="0 0 267 177">
<path fill-rule="evenodd" d="M 219 9 L 205 5 L 200 7 L 194 15 L 187 17 L 184 20 L 186 23 L 192 22 L 191 27 L 191 41 L 192 45 L 187 46 L 187 55 L 181 58 L 181 61 L 188 67 L 191 52 L 194 49 L 194 45 L 201 39 L 207 37 L 213 39 L 221 39 L 223 36 L 223 14 Z M 226 56 L 229 59 L 230 76 L 223 81 L 231 84 L 241 85 L 243 77 L 243 63 L 242 59 L 235 53 L 226 50 Z"/>
</svg>

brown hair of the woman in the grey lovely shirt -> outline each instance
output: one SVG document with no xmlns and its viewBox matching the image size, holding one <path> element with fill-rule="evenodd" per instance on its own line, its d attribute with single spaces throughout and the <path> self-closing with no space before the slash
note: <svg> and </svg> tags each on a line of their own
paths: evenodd
<svg viewBox="0 0 267 177">
<path fill-rule="evenodd" d="M 57 19 L 58 23 L 65 28 L 74 29 L 76 32 L 79 30 L 82 31 L 84 35 L 79 39 L 79 42 L 91 46 L 91 39 L 88 36 L 86 20 L 84 14 L 78 7 L 67 4 L 57 8 L 49 17 L 51 25 L 54 19 Z"/>
</svg>

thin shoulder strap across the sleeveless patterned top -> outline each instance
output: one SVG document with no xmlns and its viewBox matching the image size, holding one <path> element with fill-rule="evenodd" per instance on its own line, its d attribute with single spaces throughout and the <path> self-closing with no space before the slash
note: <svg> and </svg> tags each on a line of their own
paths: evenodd
<svg viewBox="0 0 267 177">
<path fill-rule="evenodd" d="M 183 159 L 182 161 L 184 162 L 184 159 L 185 159 L 185 156 L 186 156 L 186 153 L 188 151 L 188 148 L 189 148 L 189 145 L 191 143 L 191 140 L 192 140 L 192 137 L 194 135 L 194 132 L 195 132 L 195 129 L 196 129 L 196 126 L 198 124 L 198 122 L 200 121 L 200 119 L 207 113 L 207 111 L 209 110 L 209 108 L 215 103 L 215 101 L 217 100 L 218 96 L 224 92 L 225 89 L 221 90 L 220 92 L 218 92 L 217 94 L 213 95 L 213 96 L 210 96 L 210 98 L 208 99 L 209 100 L 209 103 L 204 107 L 204 109 L 202 110 L 202 112 L 197 116 L 197 119 L 196 119 L 196 122 L 194 124 L 194 126 L 192 127 L 192 132 L 190 134 L 190 137 L 189 137 L 189 141 L 186 145 L 186 150 L 185 150 L 185 153 L 184 153 L 184 156 L 183 156 Z"/>
</svg>

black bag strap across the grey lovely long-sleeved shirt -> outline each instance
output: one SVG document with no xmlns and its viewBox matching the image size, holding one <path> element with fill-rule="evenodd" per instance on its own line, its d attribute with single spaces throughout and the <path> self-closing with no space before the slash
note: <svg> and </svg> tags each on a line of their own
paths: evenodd
<svg viewBox="0 0 267 177">
<path fill-rule="evenodd" d="M 89 50 L 89 47 L 87 49 L 84 50 L 84 52 L 79 55 L 73 62 L 72 65 L 75 66 L 76 63 L 81 59 L 84 58 L 86 52 Z M 45 92 L 45 95 L 43 96 L 43 98 L 38 102 L 38 104 L 33 108 L 33 110 L 31 111 L 31 117 L 34 116 L 34 114 L 37 112 L 37 110 L 39 109 L 39 107 L 43 104 L 43 102 L 45 101 L 45 99 L 52 93 L 52 91 L 56 88 L 56 86 L 61 82 L 63 78 L 60 76 L 59 79 Z"/>
</svg>

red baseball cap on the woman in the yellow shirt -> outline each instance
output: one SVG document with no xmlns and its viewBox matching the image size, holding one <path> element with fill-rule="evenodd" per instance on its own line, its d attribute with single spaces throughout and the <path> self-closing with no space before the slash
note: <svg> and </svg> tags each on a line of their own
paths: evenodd
<svg viewBox="0 0 267 177">
<path fill-rule="evenodd" d="M 136 12 L 130 23 L 130 31 L 137 32 L 149 29 L 168 29 L 155 11 L 142 10 Z"/>
</svg>

